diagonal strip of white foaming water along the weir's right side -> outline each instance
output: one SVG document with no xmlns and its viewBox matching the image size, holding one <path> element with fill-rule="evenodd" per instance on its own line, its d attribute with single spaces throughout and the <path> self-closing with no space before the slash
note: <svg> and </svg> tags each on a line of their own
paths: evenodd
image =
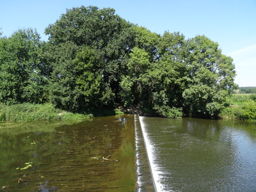
<svg viewBox="0 0 256 192">
<path fill-rule="evenodd" d="M 145 131 L 145 124 L 143 123 L 143 116 L 139 116 L 139 118 L 140 118 L 140 125 L 141 125 L 141 130 L 143 133 L 143 138 L 145 141 L 145 147 L 147 149 L 148 161 L 150 163 L 150 170 L 152 173 L 152 179 L 154 182 L 155 189 L 156 189 L 156 191 L 164 191 L 163 186 L 161 186 L 161 183 L 159 181 L 160 180 L 160 176 L 159 176 L 160 172 L 157 171 L 157 166 L 156 166 L 156 164 L 154 164 L 154 157 L 152 154 L 152 152 L 154 151 L 154 147 L 152 146 L 152 144 L 150 144 L 148 134 Z"/>
</svg>

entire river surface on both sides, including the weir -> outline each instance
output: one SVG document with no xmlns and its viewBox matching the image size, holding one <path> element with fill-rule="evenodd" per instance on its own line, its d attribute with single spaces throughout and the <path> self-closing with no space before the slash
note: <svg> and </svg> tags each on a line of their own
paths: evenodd
<svg viewBox="0 0 256 192">
<path fill-rule="evenodd" d="M 3 123 L 0 191 L 256 191 L 256 124 L 138 115 Z"/>
</svg>

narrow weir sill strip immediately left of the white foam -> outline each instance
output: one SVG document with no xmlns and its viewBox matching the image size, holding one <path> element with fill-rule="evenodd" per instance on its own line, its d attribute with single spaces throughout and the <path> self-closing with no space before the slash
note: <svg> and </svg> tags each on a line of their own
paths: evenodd
<svg viewBox="0 0 256 192">
<path fill-rule="evenodd" d="M 134 115 L 134 127 L 136 141 L 136 191 L 156 191 L 148 162 L 143 132 L 141 131 L 140 118 L 137 114 Z"/>
</svg>

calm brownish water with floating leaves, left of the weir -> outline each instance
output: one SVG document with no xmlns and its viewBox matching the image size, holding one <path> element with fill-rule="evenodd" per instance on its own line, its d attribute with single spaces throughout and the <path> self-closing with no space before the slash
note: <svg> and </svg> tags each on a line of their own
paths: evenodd
<svg viewBox="0 0 256 192">
<path fill-rule="evenodd" d="M 132 115 L 0 124 L 0 151 L 0 191 L 135 188 Z"/>
</svg>

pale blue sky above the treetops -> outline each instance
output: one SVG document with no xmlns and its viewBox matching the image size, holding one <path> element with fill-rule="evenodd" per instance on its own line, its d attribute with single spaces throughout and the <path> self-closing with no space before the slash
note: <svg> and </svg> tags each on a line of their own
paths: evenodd
<svg viewBox="0 0 256 192">
<path fill-rule="evenodd" d="M 234 59 L 235 82 L 256 86 L 255 0 L 1 0 L 1 31 L 10 36 L 17 29 L 35 28 L 47 40 L 44 29 L 67 8 L 81 5 L 114 8 L 123 19 L 160 35 L 164 31 L 180 31 L 186 38 L 205 35 Z"/>
</svg>

